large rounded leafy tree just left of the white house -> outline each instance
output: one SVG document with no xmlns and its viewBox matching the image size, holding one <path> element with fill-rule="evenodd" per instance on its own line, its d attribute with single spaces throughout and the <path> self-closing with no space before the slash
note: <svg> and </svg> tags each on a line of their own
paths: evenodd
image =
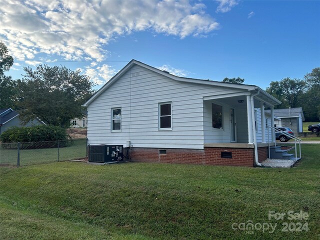
<svg viewBox="0 0 320 240">
<path fill-rule="evenodd" d="M 69 126 L 70 119 L 83 116 L 82 103 L 92 95 L 94 83 L 80 71 L 65 66 L 24 67 L 25 75 L 17 81 L 20 119 L 34 116 L 47 124 Z"/>
</svg>

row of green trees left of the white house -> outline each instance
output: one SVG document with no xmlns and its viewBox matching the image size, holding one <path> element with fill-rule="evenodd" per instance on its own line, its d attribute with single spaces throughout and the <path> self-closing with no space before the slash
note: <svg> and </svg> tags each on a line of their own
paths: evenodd
<svg viewBox="0 0 320 240">
<path fill-rule="evenodd" d="M 24 67 L 22 78 L 13 80 L 4 74 L 12 64 L 12 56 L 0 42 L 0 108 L 17 110 L 23 123 L 38 117 L 62 127 L 85 114 L 81 104 L 94 93 L 95 85 L 89 76 L 65 66 L 40 64 L 35 69 Z"/>
</svg>

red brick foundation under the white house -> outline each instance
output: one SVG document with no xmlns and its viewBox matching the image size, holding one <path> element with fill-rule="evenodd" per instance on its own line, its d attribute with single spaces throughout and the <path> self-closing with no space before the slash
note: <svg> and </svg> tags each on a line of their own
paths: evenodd
<svg viewBox="0 0 320 240">
<path fill-rule="evenodd" d="M 166 154 L 159 154 L 166 150 Z M 232 158 L 222 158 L 221 152 L 231 152 Z M 267 158 L 267 147 L 258 148 L 259 162 Z M 254 166 L 254 148 L 204 147 L 204 149 L 137 148 L 130 150 L 133 161 L 189 163 L 204 165 Z"/>
</svg>

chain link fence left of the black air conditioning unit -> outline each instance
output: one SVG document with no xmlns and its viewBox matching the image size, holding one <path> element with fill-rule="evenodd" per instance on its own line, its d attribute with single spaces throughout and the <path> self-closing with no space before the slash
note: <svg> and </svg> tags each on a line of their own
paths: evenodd
<svg viewBox="0 0 320 240">
<path fill-rule="evenodd" d="M 0 143 L 0 165 L 25 166 L 87 156 L 86 138 L 63 141 Z"/>
</svg>

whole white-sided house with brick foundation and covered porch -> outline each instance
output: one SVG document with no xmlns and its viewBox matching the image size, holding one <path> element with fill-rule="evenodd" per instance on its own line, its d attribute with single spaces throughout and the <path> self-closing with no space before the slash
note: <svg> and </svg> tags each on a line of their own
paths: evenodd
<svg viewBox="0 0 320 240">
<path fill-rule="evenodd" d="M 130 146 L 132 160 L 253 166 L 267 157 L 279 103 L 255 85 L 179 77 L 132 59 L 83 106 L 88 144 Z"/>
</svg>

